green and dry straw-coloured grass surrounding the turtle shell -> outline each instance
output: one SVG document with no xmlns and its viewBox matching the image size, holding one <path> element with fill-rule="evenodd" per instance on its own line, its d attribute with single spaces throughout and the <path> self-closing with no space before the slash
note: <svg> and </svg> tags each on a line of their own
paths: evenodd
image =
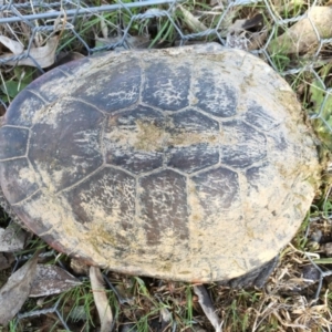
<svg viewBox="0 0 332 332">
<path fill-rule="evenodd" d="M 276 15 L 280 15 L 281 19 L 289 19 L 295 14 L 303 13 L 308 8 L 307 2 L 282 1 L 281 3 L 283 6 L 280 8 L 278 8 L 277 4 L 274 6 L 277 11 Z M 321 2 L 321 4 L 324 4 L 324 2 Z M 216 29 L 211 35 L 201 35 L 196 39 L 200 41 L 212 40 L 216 39 L 217 35 L 225 38 L 228 28 L 236 20 L 246 19 L 248 17 L 251 18 L 257 13 L 262 13 L 263 28 L 267 29 L 269 33 L 273 33 L 271 38 L 272 41 L 282 32 L 287 32 L 290 27 L 290 24 L 287 24 L 272 30 L 277 24 L 270 17 L 267 8 L 261 3 L 259 6 L 252 4 L 230 9 L 221 24 L 219 15 L 219 13 L 224 12 L 221 7 L 210 7 L 196 1 L 187 1 L 183 6 L 190 13 L 198 17 L 200 22 L 207 28 Z M 167 8 L 160 6 L 156 9 L 166 10 Z M 146 12 L 146 10 L 147 8 L 132 9 L 131 14 L 135 15 Z M 148 32 L 151 34 L 148 41 L 151 48 L 176 44 L 179 38 L 177 28 L 180 29 L 184 34 L 199 32 L 188 28 L 179 7 L 175 7 L 174 10 L 169 11 L 173 22 L 165 15 L 132 21 L 131 14 L 122 10 L 121 12 L 85 15 L 84 18 L 79 18 L 73 28 L 86 42 L 89 49 L 104 45 L 104 42 L 98 43 L 96 41 L 95 35 L 104 38 L 103 33 L 105 31 L 107 38 L 114 38 L 118 34 L 123 37 L 124 31 L 127 31 L 127 33 L 133 37 L 144 35 Z M 29 27 L 22 23 L 21 29 L 29 30 Z M 258 28 L 255 29 L 259 30 Z M 22 31 L 19 30 L 12 31 L 19 40 L 21 32 Z M 1 33 L 12 38 L 8 30 L 0 30 L 0 34 Z M 106 42 L 110 41 L 111 39 L 106 39 Z M 27 45 L 27 39 L 23 43 Z M 329 46 L 326 46 L 326 49 L 322 50 L 322 55 L 329 52 Z M 87 53 L 82 42 L 77 40 L 70 30 L 64 31 L 59 51 Z M 305 55 L 307 54 L 301 54 L 300 56 L 289 55 L 282 48 L 278 46 L 269 50 L 270 61 L 279 72 L 286 72 L 293 68 L 303 68 L 304 64 L 311 61 L 311 58 L 305 58 Z M 23 66 L 6 69 L 6 71 L 1 71 L 0 97 L 4 103 L 10 103 L 12 98 L 33 80 L 35 70 Z M 329 148 L 332 146 L 332 97 L 328 94 L 326 87 L 331 86 L 331 65 L 321 65 L 314 68 L 314 71 L 299 72 L 298 74 L 286 76 L 288 82 L 297 91 L 308 113 L 319 115 L 319 118 L 313 122 L 313 125 Z M 307 331 L 329 331 L 329 321 L 331 321 L 332 312 L 332 291 L 329 280 L 323 282 L 317 302 L 311 301 L 317 284 L 300 284 L 300 288 L 298 288 L 300 290 L 298 291 L 289 289 L 290 286 L 295 284 L 295 280 L 301 279 L 302 268 L 309 263 L 308 258 L 302 252 L 319 253 L 319 248 L 311 246 L 311 234 L 320 229 L 323 237 L 326 239 L 331 238 L 330 215 L 332 200 L 329 181 L 328 179 L 325 187 L 312 206 L 312 210 L 308 214 L 292 245 L 281 252 L 280 266 L 273 272 L 263 290 L 234 290 L 217 284 L 208 286 L 209 294 L 216 307 L 216 312 L 224 321 L 224 331 L 300 332 L 305 331 L 303 325 L 308 328 Z M 315 222 L 310 221 L 313 218 L 317 219 Z M 1 215 L 0 225 L 3 227 L 7 226 L 8 222 L 7 216 Z M 309 225 L 310 232 L 309 236 L 307 236 L 305 230 Z M 24 255 L 33 253 L 37 249 L 42 249 L 43 251 L 50 250 L 48 245 L 33 237 L 24 250 L 15 253 L 15 257 L 20 259 Z M 75 273 L 70 266 L 70 260 L 64 256 L 56 258 L 51 257 L 49 262 L 59 263 L 59 261 L 61 261 L 69 271 Z M 326 264 L 326 268 L 329 268 L 330 261 L 330 259 L 329 261 L 320 260 L 321 263 Z M 10 270 L 6 270 L 6 276 L 9 276 L 10 272 Z M 126 299 L 126 301 L 122 302 L 116 297 L 116 292 L 108 289 L 106 290 L 115 325 L 118 329 L 124 329 L 123 326 L 126 325 L 129 329 L 127 331 L 160 331 L 164 323 L 168 329 L 175 329 L 176 331 L 199 331 L 199 328 L 206 331 L 212 331 L 211 324 L 203 313 L 190 284 L 151 278 L 128 277 L 108 271 L 104 271 L 104 274 L 105 278 L 112 282 L 122 299 Z M 80 274 L 79 277 L 83 281 L 82 286 L 60 295 L 48 297 L 42 301 L 30 299 L 24 304 L 23 311 L 33 312 L 37 309 L 55 308 L 56 304 L 60 315 L 72 331 L 95 331 L 98 325 L 98 318 L 91 287 L 86 276 Z M 48 331 L 61 331 L 61 329 L 63 329 L 59 317 L 52 313 L 43 315 L 42 319 L 28 318 L 20 322 L 13 320 L 8 328 L 0 328 L 0 331 L 27 331 L 28 329 L 38 331 L 38 329 L 45 329 L 45 326 Z"/>
</svg>

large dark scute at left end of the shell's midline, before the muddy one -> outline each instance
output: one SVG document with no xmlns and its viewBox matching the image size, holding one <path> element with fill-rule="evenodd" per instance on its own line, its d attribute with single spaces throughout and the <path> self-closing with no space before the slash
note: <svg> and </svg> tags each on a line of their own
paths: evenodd
<svg viewBox="0 0 332 332">
<path fill-rule="evenodd" d="M 64 189 L 103 164 L 104 116 L 77 101 L 61 101 L 31 129 L 29 159 L 51 191 Z"/>
</svg>

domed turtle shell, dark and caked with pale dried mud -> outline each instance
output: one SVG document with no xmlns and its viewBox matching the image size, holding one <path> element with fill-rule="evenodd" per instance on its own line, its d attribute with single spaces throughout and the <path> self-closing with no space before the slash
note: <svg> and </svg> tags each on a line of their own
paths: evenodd
<svg viewBox="0 0 332 332">
<path fill-rule="evenodd" d="M 24 225 L 86 264 L 188 282 L 266 269 L 320 185 L 290 85 L 219 44 L 100 53 L 11 103 L 0 185 Z"/>
</svg>

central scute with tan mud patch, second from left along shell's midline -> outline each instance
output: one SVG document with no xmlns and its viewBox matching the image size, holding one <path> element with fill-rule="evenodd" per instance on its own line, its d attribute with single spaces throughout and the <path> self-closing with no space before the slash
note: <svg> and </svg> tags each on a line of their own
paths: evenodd
<svg viewBox="0 0 332 332">
<path fill-rule="evenodd" d="M 106 163 L 134 174 L 160 167 L 164 128 L 165 116 L 142 105 L 110 116 L 103 135 Z"/>
</svg>

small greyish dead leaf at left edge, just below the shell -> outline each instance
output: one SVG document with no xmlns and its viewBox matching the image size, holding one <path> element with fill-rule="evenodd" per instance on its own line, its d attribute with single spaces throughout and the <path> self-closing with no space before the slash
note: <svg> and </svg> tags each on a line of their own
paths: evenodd
<svg viewBox="0 0 332 332">
<path fill-rule="evenodd" d="M 13 252 L 24 248 L 27 232 L 18 226 L 0 228 L 0 251 Z"/>
</svg>

